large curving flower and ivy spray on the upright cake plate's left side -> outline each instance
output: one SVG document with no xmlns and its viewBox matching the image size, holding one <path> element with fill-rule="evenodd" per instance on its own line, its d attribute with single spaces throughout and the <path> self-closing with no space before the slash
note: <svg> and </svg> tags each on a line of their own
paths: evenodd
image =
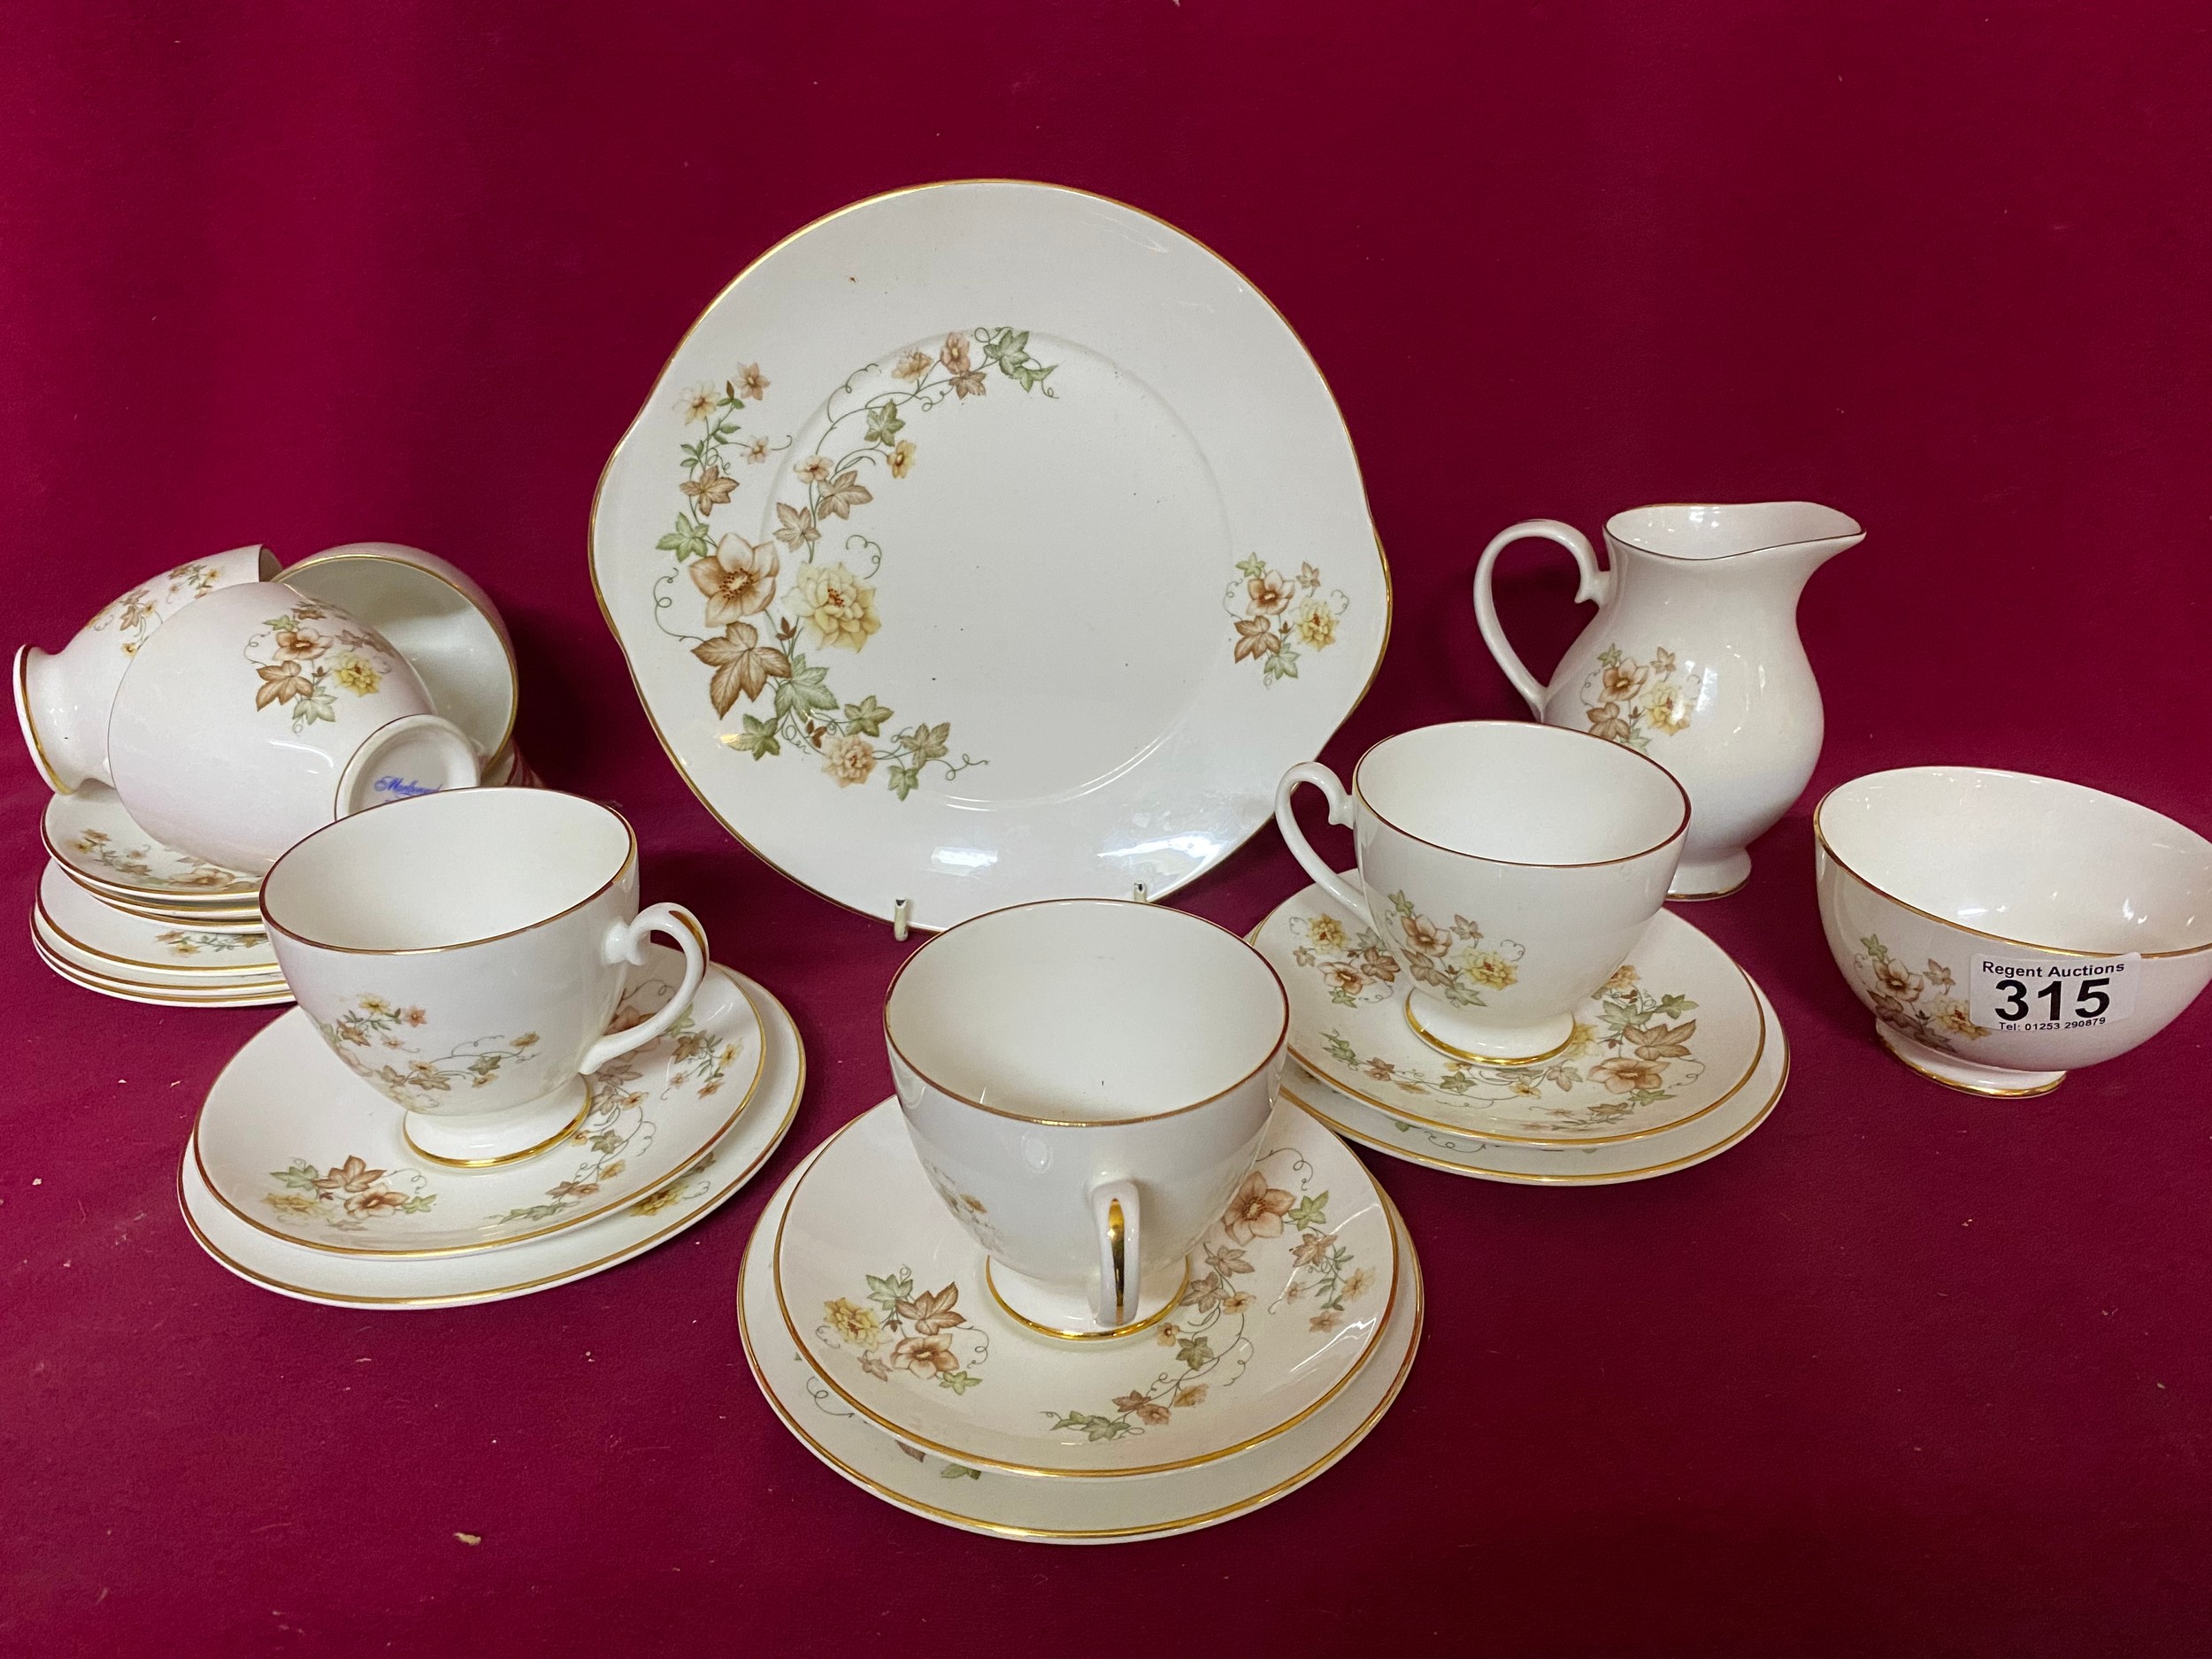
<svg viewBox="0 0 2212 1659">
<path fill-rule="evenodd" d="M 889 367 L 889 385 L 849 403 L 856 380 L 883 374 L 878 363 L 863 365 L 832 394 L 816 453 L 790 469 L 799 498 L 772 502 L 774 524 L 761 520 L 765 535 L 759 542 L 741 533 L 714 535 L 710 520 L 739 489 L 741 480 L 728 471 L 732 465 L 765 462 L 792 447 L 790 436 L 748 434 L 739 420 L 750 403 L 768 396 L 768 378 L 752 365 L 721 392 L 686 394 L 684 420 L 703 422 L 703 431 L 681 447 L 677 489 L 684 504 L 675 529 L 657 542 L 675 555 L 677 568 L 655 582 L 653 602 L 655 615 L 666 617 L 681 595 L 679 575 L 688 577 L 703 602 L 701 633 L 670 628 L 666 619 L 661 633 L 686 641 L 692 657 L 712 668 L 706 695 L 714 714 L 728 719 L 739 703 L 759 706 L 759 712 L 739 712 L 739 730 L 721 732 L 728 748 L 765 761 L 787 743 L 814 754 L 838 787 L 867 783 L 880 770 L 900 801 L 931 770 L 956 779 L 982 765 L 964 752 L 951 759 L 949 721 L 891 726 L 894 710 L 874 692 L 845 701 L 830 686 L 830 661 L 816 657 L 858 655 L 883 630 L 874 584 L 883 546 L 849 531 L 832 551 L 823 533 L 830 520 L 849 529 L 854 511 L 874 502 L 876 489 L 914 473 L 920 447 L 907 429 L 920 416 L 984 396 L 991 369 L 1022 392 L 1042 389 L 1055 398 L 1046 385 L 1055 367 L 1031 356 L 1026 330 L 978 327 L 947 334 L 933 352 L 900 354 Z M 841 398 L 847 400 L 843 409 Z"/>
</svg>

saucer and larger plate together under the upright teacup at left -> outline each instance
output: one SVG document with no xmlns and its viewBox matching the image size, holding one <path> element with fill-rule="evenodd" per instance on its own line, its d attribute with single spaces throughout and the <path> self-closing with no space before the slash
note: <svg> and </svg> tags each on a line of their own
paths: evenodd
<svg viewBox="0 0 2212 1659">
<path fill-rule="evenodd" d="M 681 980 L 684 958 L 653 947 L 617 1026 L 646 1020 Z M 588 1110 L 557 1146 L 429 1166 L 392 1102 L 294 1009 L 215 1079 L 177 1194 L 210 1256 L 285 1296 L 502 1301 L 613 1267 L 710 1214 L 774 1152 L 803 1084 L 783 1004 L 710 964 L 686 1018 L 591 1077 Z"/>
</svg>

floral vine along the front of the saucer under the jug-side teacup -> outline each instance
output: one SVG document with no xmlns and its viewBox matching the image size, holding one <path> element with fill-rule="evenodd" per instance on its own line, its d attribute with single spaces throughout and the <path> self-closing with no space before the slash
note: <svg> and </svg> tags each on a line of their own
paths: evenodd
<svg viewBox="0 0 2212 1659">
<path fill-rule="evenodd" d="M 1533 1066 L 1484 1066 L 1447 1060 L 1440 1071 L 1400 1066 L 1360 1055 L 1338 1033 L 1323 1033 L 1329 1055 L 1363 1077 L 1407 1095 L 1442 1095 L 1478 1108 L 1524 1113 L 1531 1133 L 1595 1130 L 1619 1124 L 1644 1106 L 1672 1099 L 1705 1073 L 1690 1040 L 1697 1002 L 1681 993 L 1655 995 L 1637 982 L 1637 967 L 1619 967 L 1597 991 L 1597 1022 L 1575 1022 L 1566 1048 Z"/>
</svg>

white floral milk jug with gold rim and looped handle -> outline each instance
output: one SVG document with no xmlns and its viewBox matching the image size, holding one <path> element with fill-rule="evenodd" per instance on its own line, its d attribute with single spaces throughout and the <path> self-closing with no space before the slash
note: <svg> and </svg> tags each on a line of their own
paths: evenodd
<svg viewBox="0 0 2212 1659">
<path fill-rule="evenodd" d="M 1491 599 L 1498 555 L 1528 535 L 1564 546 L 1582 575 L 1575 597 L 1597 604 L 1548 686 L 1515 655 Z M 1551 518 L 1513 524 L 1482 551 L 1475 619 L 1531 712 L 1650 754 L 1690 792 L 1674 898 L 1741 887 L 1745 847 L 1812 779 L 1823 714 L 1798 593 L 1865 535 L 1814 502 L 1668 504 L 1606 520 L 1606 568 L 1582 531 Z"/>
</svg>

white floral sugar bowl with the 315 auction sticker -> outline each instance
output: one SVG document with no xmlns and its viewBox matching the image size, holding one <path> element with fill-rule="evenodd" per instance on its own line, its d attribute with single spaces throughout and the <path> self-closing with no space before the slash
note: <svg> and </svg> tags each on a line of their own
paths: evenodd
<svg viewBox="0 0 2212 1659">
<path fill-rule="evenodd" d="M 2212 843 L 2079 783 L 1916 765 L 1814 810 L 1820 925 L 1874 1033 L 1975 1095 L 2042 1095 L 2212 980 Z"/>
</svg>

